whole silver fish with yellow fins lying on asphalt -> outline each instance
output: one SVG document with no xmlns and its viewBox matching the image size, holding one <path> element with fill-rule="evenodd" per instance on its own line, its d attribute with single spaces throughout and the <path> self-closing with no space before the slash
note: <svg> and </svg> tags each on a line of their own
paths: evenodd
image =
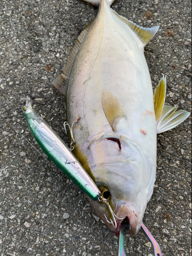
<svg viewBox="0 0 192 256">
<path fill-rule="evenodd" d="M 74 155 L 102 200 L 88 200 L 116 234 L 136 236 L 156 180 L 157 134 L 190 113 L 165 105 L 166 77 L 153 93 L 145 45 L 159 26 L 142 28 L 112 10 L 114 0 L 85 0 L 98 14 L 77 38 L 67 65 L 51 80 L 66 97 Z"/>
</svg>

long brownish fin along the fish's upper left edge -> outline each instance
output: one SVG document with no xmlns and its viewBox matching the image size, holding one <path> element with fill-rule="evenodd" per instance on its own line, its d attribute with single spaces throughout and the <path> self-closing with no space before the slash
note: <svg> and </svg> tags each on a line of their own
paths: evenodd
<svg viewBox="0 0 192 256">
<path fill-rule="evenodd" d="M 94 19 L 93 19 L 94 20 Z M 80 35 L 77 38 L 76 44 L 72 50 L 72 53 L 69 57 L 69 60 L 66 64 L 66 66 L 62 69 L 63 74 L 58 74 L 55 78 L 51 79 L 51 83 L 53 84 L 53 86 L 62 94 L 62 95 L 66 95 L 66 91 L 67 91 L 67 86 L 68 86 L 68 82 L 69 82 L 69 78 L 70 78 L 70 74 L 71 74 L 71 70 L 73 68 L 73 63 L 75 60 L 75 57 L 79 51 L 79 48 L 83 42 L 84 37 L 86 37 L 92 22 L 80 33 Z"/>
</svg>

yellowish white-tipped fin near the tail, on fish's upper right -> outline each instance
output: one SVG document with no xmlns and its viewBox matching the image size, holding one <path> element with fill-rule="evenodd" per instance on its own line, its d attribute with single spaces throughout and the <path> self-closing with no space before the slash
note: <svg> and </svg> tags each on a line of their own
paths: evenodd
<svg viewBox="0 0 192 256">
<path fill-rule="evenodd" d="M 142 28 L 136 23 L 131 22 L 130 20 L 120 16 L 118 13 L 113 11 L 127 26 L 129 26 L 139 37 L 143 46 L 145 46 L 157 33 L 159 26 L 153 28 Z"/>
</svg>

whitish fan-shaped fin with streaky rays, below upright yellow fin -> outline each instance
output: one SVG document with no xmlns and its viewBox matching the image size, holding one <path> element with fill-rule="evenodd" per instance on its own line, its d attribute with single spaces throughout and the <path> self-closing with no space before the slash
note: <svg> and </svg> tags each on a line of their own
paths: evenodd
<svg viewBox="0 0 192 256">
<path fill-rule="evenodd" d="M 164 133 L 175 128 L 182 123 L 190 113 L 184 110 L 178 110 L 173 106 L 163 106 L 160 119 L 157 121 L 157 134 Z"/>
</svg>

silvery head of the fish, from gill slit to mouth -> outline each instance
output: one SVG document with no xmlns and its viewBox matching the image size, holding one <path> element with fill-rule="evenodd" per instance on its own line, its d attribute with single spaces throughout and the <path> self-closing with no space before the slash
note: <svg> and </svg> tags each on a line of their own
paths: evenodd
<svg viewBox="0 0 192 256">
<path fill-rule="evenodd" d="M 97 141 L 91 150 L 92 154 L 97 155 L 92 169 L 96 185 L 115 215 L 104 202 L 90 200 L 93 209 L 116 234 L 125 220 L 130 223 L 131 236 L 136 236 L 142 224 L 148 197 L 149 172 L 145 154 L 135 142 L 130 143 L 125 136 L 120 136 L 118 143 L 115 139 L 108 138 Z M 113 217 L 116 227 L 109 223 Z"/>
</svg>

